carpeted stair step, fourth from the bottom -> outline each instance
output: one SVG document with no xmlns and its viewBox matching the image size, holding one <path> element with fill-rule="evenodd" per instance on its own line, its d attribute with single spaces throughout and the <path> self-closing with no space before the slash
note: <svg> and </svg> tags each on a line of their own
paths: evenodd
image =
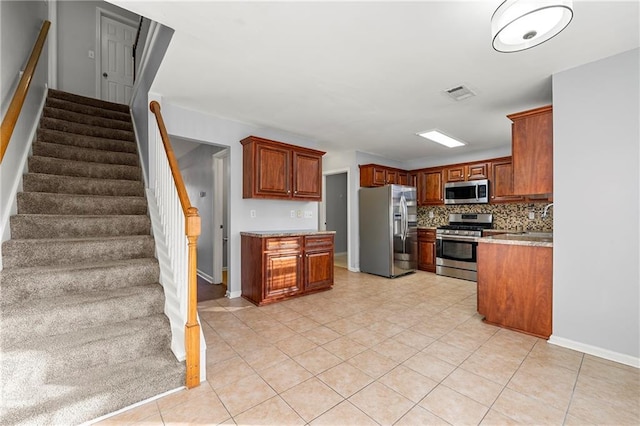
<svg viewBox="0 0 640 426">
<path fill-rule="evenodd" d="M 154 284 L 160 269 L 155 258 L 83 262 L 63 266 L 5 268 L 0 271 L 0 304 L 10 305 L 84 291 Z"/>
</svg>

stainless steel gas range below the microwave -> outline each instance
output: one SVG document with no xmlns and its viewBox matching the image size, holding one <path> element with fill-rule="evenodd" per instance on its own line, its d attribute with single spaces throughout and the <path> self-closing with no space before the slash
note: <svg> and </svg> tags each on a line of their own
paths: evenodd
<svg viewBox="0 0 640 426">
<path fill-rule="evenodd" d="M 453 213 L 449 224 L 436 229 L 436 274 L 477 281 L 478 238 L 490 229 L 489 213 Z"/>
</svg>

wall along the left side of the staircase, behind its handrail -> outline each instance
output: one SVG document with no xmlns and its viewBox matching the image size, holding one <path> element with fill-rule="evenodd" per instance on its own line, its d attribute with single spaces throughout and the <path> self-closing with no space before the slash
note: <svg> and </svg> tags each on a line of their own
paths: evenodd
<svg viewBox="0 0 640 426">
<path fill-rule="evenodd" d="M 20 71 L 24 70 L 26 66 L 33 44 L 38 38 L 40 28 L 47 19 L 47 15 L 48 8 L 44 2 L 0 2 L 2 117 L 5 116 L 9 108 L 11 98 L 20 80 Z M 18 189 L 21 190 L 22 167 L 29 153 L 46 96 L 47 66 L 48 44 L 45 44 L 9 147 L 5 152 L 2 165 L 0 165 L 0 235 L 2 241 L 10 238 L 9 216 L 16 212 L 15 193 Z"/>
</svg>

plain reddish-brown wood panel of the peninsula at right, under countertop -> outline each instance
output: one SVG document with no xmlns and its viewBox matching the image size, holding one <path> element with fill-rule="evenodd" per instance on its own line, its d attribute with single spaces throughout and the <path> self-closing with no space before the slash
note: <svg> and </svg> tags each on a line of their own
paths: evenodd
<svg viewBox="0 0 640 426">
<path fill-rule="evenodd" d="M 553 248 L 478 244 L 478 313 L 485 322 L 548 339 Z"/>
</svg>

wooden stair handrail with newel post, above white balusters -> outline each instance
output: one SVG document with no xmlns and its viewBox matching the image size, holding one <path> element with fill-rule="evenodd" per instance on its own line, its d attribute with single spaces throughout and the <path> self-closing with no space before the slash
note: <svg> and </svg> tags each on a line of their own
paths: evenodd
<svg viewBox="0 0 640 426">
<path fill-rule="evenodd" d="M 198 209 L 191 205 L 189 201 L 189 194 L 182 180 L 182 174 L 178 167 L 178 161 L 176 160 L 175 153 L 171 147 L 171 141 L 169 140 L 169 134 L 167 128 L 164 125 L 162 113 L 160 112 L 160 104 L 156 101 L 152 101 L 149 104 L 149 109 L 156 116 L 156 122 L 160 129 L 160 137 L 164 150 L 167 154 L 167 160 L 169 161 L 169 167 L 171 168 L 171 174 L 176 184 L 176 190 L 178 191 L 178 198 L 182 205 L 182 211 L 185 216 L 185 234 L 188 241 L 188 303 L 187 303 L 187 323 L 185 324 L 185 351 L 186 351 L 186 365 L 187 365 L 187 377 L 186 386 L 191 389 L 200 385 L 200 324 L 198 324 L 197 306 L 198 306 L 198 284 L 197 284 L 197 247 L 198 236 L 200 235 L 200 215 Z"/>
</svg>

